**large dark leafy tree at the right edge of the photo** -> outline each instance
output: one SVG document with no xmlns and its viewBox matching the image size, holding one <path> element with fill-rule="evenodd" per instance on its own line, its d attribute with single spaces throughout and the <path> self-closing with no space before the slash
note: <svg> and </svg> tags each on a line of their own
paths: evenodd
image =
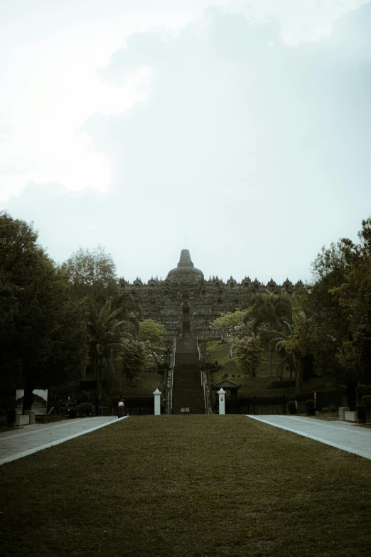
<svg viewBox="0 0 371 557">
<path fill-rule="evenodd" d="M 362 221 L 360 244 L 348 238 L 322 248 L 312 264 L 313 282 L 299 298 L 305 327 L 294 336 L 313 354 L 316 373 L 347 388 L 351 408 L 359 381 L 370 381 L 371 219 Z"/>
</svg>

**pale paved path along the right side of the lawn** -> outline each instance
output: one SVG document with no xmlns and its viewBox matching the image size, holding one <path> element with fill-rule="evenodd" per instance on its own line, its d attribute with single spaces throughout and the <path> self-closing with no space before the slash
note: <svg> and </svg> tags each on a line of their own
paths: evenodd
<svg viewBox="0 0 371 557">
<path fill-rule="evenodd" d="M 371 459 L 371 429 L 361 428 L 348 422 L 327 422 L 303 416 L 248 415 L 247 417 Z"/>
</svg>

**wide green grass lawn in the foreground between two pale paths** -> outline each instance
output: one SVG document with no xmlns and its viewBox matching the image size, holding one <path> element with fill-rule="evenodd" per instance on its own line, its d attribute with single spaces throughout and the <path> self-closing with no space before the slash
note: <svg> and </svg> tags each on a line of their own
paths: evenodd
<svg viewBox="0 0 371 557">
<path fill-rule="evenodd" d="M 1 556 L 370 555 L 371 461 L 242 415 L 128 418 L 1 467 Z"/>
</svg>

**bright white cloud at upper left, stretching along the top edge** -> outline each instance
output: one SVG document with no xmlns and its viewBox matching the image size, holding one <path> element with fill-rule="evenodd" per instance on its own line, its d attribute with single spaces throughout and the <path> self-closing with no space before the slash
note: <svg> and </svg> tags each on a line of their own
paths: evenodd
<svg viewBox="0 0 371 557">
<path fill-rule="evenodd" d="M 281 25 L 284 41 L 296 44 L 330 33 L 333 21 L 365 0 L 315 1 L 217 0 L 229 13 L 249 20 Z M 59 183 L 75 191 L 106 191 L 112 182 L 111 163 L 92 147 L 79 129 L 92 114 L 125 112 L 144 100 L 141 86 L 150 68 L 125 73 L 120 83 L 102 83 L 99 68 L 135 30 L 153 26 L 179 30 L 200 18 L 207 1 L 74 0 L 59 4 L 38 0 L 17 8 L 1 6 L 3 43 L 1 90 L 0 201 L 19 195 L 28 181 Z M 66 9 L 68 7 L 68 9 Z M 23 14 L 23 19 L 19 14 Z M 204 18 L 204 25 L 205 25 Z M 10 55 L 9 55 L 10 52 Z M 1 122 L 0 120 L 0 122 Z"/>
</svg>

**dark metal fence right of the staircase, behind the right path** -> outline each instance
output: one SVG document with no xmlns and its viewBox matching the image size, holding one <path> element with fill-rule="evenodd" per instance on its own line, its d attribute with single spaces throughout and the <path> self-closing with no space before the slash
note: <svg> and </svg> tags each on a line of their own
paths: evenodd
<svg viewBox="0 0 371 557">
<path fill-rule="evenodd" d="M 347 406 L 345 390 L 318 391 L 317 393 L 299 393 L 276 396 L 226 396 L 225 413 L 227 414 L 289 414 L 287 403 L 296 400 L 298 413 L 306 412 L 306 400 L 315 400 L 316 409 L 328 408 L 330 405 Z M 214 408 L 217 410 L 217 408 Z"/>
</svg>

